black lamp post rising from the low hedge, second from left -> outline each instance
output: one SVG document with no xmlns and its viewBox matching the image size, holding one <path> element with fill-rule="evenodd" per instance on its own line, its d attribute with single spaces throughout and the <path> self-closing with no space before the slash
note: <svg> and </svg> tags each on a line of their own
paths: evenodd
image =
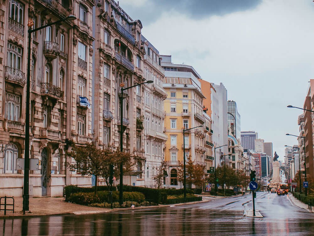
<svg viewBox="0 0 314 236">
<path fill-rule="evenodd" d="M 121 97 L 120 97 L 120 152 L 123 152 L 123 91 L 127 90 L 129 88 L 133 88 L 142 84 L 151 84 L 154 83 L 154 81 L 149 80 L 143 83 L 135 84 L 133 86 L 123 88 L 124 83 L 120 83 L 121 87 Z M 119 187 L 119 202 L 120 205 L 123 204 L 123 162 L 120 163 L 120 187 Z"/>
</svg>

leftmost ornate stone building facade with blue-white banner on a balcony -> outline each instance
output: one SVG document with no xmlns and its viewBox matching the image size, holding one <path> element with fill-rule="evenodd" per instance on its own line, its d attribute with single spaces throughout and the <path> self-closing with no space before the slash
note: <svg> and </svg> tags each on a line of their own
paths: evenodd
<svg viewBox="0 0 314 236">
<path fill-rule="evenodd" d="M 87 1 L 1 2 L 0 28 L 0 195 L 21 196 L 25 132 L 30 133 L 30 158 L 39 159 L 39 170 L 30 171 L 33 196 L 61 196 L 65 184 L 90 185 L 66 168 L 65 152 L 72 144 L 91 138 L 92 113 L 92 8 Z M 74 14 L 33 33 L 31 42 L 30 130 L 25 131 L 27 37 L 29 20 L 34 27 Z"/>
</svg>

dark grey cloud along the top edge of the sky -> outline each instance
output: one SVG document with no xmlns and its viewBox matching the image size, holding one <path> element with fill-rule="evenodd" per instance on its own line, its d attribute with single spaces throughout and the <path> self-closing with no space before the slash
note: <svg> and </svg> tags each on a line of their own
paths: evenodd
<svg viewBox="0 0 314 236">
<path fill-rule="evenodd" d="M 139 19 L 143 24 L 157 20 L 164 12 L 176 11 L 192 19 L 203 19 L 212 15 L 225 15 L 238 11 L 256 8 L 262 0 L 151 0 L 141 8 L 128 5 L 124 9 L 133 19 Z M 120 6 L 123 8 L 123 2 Z"/>
</svg>

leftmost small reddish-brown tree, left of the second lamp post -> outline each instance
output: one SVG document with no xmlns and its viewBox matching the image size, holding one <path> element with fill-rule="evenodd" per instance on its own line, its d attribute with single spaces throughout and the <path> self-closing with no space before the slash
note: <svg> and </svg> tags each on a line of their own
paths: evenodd
<svg viewBox="0 0 314 236">
<path fill-rule="evenodd" d="M 67 153 L 69 157 L 72 157 L 75 162 L 67 163 L 70 171 L 77 171 L 82 176 L 95 175 L 95 194 L 97 193 L 97 180 L 101 176 L 104 168 L 104 150 L 97 148 L 96 143 L 98 137 L 91 142 L 85 143 L 84 146 L 75 145 L 71 152 Z"/>
</svg>

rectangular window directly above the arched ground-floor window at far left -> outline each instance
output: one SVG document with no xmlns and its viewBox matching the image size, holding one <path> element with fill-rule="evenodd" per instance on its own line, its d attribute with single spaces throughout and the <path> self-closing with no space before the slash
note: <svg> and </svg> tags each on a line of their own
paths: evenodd
<svg viewBox="0 0 314 236">
<path fill-rule="evenodd" d="M 5 97 L 5 118 L 10 121 L 19 121 L 20 96 L 13 93 L 6 93 Z"/>
</svg>

